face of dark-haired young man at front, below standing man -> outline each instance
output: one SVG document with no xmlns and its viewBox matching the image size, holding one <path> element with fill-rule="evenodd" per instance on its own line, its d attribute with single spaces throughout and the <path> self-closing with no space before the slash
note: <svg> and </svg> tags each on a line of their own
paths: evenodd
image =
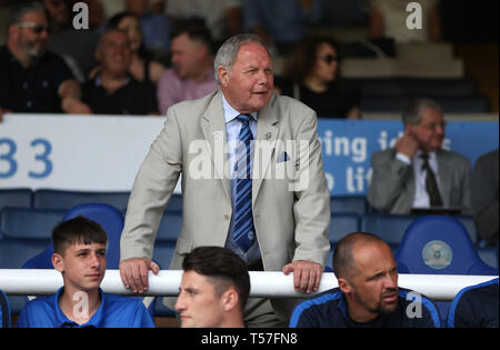
<svg viewBox="0 0 500 350">
<path fill-rule="evenodd" d="M 182 328 L 213 328 L 223 321 L 222 298 L 207 277 L 194 271 L 182 273 L 176 310 Z"/>
</svg>

